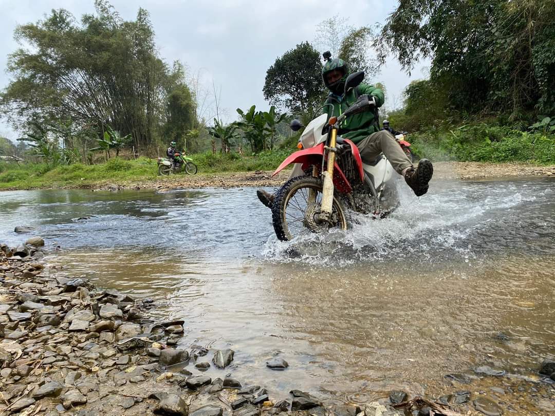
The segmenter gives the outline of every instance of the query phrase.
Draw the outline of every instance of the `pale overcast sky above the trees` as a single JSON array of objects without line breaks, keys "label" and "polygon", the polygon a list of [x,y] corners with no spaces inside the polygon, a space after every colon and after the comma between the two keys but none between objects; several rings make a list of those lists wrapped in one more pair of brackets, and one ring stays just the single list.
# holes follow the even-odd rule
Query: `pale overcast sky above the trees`
[{"label": "pale overcast sky above the trees", "polygon": [[[112,0],[126,20],[135,19],[139,7],[147,9],[156,33],[160,55],[171,63],[178,59],[193,72],[200,70],[207,85],[221,87],[224,119],[234,120],[236,108],[256,104],[268,109],[262,88],[266,70],[296,44],[316,35],[316,25],[341,14],[360,27],[384,22],[395,0]],[[8,84],[7,55],[17,48],[17,24],[36,22],[52,8],[65,8],[80,19],[94,12],[94,0],[0,0],[0,88]],[[321,51],[323,52],[323,51]],[[413,78],[422,78],[419,65]],[[386,100],[397,97],[410,82],[395,59],[377,77],[387,87]],[[0,135],[18,134],[0,120]]]}]

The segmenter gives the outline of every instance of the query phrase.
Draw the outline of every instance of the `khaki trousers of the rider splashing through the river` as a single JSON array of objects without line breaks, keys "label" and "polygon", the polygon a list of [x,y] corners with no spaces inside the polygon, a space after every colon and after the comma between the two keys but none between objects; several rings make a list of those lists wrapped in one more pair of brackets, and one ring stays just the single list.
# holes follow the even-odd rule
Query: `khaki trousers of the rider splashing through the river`
[{"label": "khaki trousers of the rider splashing through the river", "polygon": [[[412,166],[411,161],[401,149],[395,137],[388,131],[381,130],[372,133],[366,139],[359,141],[356,146],[359,148],[360,157],[365,164],[372,163],[380,153],[383,153],[398,174],[401,174],[403,169]],[[293,166],[289,179],[304,174],[301,166],[300,163],[296,163]]]}]

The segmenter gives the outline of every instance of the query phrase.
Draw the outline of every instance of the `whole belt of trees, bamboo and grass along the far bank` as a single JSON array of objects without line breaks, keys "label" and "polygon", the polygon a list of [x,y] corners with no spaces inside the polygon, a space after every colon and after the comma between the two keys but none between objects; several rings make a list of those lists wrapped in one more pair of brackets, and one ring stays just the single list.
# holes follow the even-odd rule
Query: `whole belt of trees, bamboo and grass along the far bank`
[{"label": "whole belt of trees, bamboo and grass along the far bank", "polygon": [[[21,48],[9,55],[11,82],[0,94],[0,111],[21,138],[17,145],[0,138],[3,189],[153,178],[155,158],[172,140],[201,173],[275,169],[296,150],[290,120],[307,123],[325,98],[326,49],[351,70],[364,69],[386,98],[379,79],[388,54],[407,71],[421,58],[431,60],[401,106],[386,100],[380,109],[382,120],[410,132],[418,156],[555,164],[551,1],[467,7],[460,0],[410,0],[377,29],[329,18],[312,42],[287,50],[268,69],[263,94],[270,109],[236,109],[232,122],[221,117],[214,84],[210,92],[199,74],[160,58],[147,11],[124,21],[105,0],[95,9],[80,20],[54,10],[15,29]],[[12,155],[25,162],[8,162]]]}]

